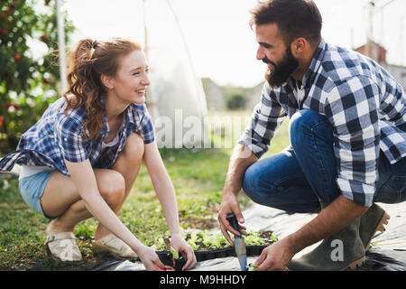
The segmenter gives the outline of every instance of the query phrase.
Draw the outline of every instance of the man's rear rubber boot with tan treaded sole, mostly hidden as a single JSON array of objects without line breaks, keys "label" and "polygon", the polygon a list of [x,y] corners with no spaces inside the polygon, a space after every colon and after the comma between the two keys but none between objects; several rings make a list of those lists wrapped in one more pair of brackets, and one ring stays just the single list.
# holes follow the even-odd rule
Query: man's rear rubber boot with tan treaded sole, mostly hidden
[{"label": "man's rear rubber boot with tan treaded sole, mostly hidden", "polygon": [[365,251],[369,249],[371,239],[377,231],[385,230],[386,225],[391,217],[377,204],[373,204],[361,217],[359,226],[359,237],[363,241]]}]

